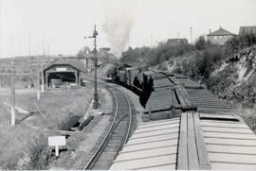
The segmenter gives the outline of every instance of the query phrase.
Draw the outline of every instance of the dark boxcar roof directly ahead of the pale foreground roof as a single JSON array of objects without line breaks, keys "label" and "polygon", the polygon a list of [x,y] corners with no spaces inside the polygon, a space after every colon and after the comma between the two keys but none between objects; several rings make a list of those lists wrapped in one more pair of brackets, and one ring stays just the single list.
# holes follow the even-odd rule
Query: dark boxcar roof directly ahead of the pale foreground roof
[{"label": "dark boxcar roof directly ahead of the pale foreground roof", "polygon": [[[156,74],[154,75],[156,76]],[[153,85],[154,91],[146,103],[145,113],[168,111],[172,106],[182,111],[233,112],[226,101],[220,100],[188,77],[165,75],[165,77],[154,79]],[[172,95],[171,89],[174,89],[174,95]]]}]

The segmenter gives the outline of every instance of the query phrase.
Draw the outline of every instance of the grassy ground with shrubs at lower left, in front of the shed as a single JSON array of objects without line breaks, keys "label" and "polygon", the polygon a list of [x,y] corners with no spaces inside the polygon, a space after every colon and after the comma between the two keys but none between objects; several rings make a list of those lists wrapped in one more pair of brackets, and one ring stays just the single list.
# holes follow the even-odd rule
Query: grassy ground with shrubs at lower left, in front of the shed
[{"label": "grassy ground with shrubs at lower left, in front of the shed", "polygon": [[[92,98],[91,87],[53,90],[36,100],[32,89],[16,91],[16,106],[32,113],[14,127],[10,126],[9,92],[0,92],[0,169],[46,169],[46,137],[56,135],[73,116],[82,116]],[[33,106],[37,104],[44,117]],[[26,114],[16,113],[22,120]],[[46,131],[44,131],[46,130]]]}]

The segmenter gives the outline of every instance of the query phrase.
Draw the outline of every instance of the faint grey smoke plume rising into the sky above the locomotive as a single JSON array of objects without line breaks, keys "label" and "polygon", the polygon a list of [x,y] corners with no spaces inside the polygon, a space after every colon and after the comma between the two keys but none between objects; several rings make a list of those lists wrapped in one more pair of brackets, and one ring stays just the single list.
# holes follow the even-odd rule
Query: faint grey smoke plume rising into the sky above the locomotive
[{"label": "faint grey smoke plume rising into the sky above the locomotive", "polygon": [[129,45],[130,32],[136,19],[134,1],[106,1],[104,4],[104,22],[102,28],[110,43],[112,52],[119,58]]}]

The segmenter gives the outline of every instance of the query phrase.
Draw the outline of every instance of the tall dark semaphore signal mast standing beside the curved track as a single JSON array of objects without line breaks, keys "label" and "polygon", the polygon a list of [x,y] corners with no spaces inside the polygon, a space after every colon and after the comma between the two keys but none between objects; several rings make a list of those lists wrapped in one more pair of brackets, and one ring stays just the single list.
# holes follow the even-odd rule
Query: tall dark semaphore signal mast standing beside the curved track
[{"label": "tall dark semaphore signal mast standing beside the curved track", "polygon": [[[99,107],[99,95],[97,93],[97,66],[98,66],[98,59],[97,59],[97,36],[98,36],[98,31],[96,30],[96,25],[94,25],[94,31],[93,31],[93,36],[90,36],[88,38],[93,38],[94,39],[94,103],[93,103],[93,108],[98,109]],[[86,37],[84,37],[86,38]]]}]

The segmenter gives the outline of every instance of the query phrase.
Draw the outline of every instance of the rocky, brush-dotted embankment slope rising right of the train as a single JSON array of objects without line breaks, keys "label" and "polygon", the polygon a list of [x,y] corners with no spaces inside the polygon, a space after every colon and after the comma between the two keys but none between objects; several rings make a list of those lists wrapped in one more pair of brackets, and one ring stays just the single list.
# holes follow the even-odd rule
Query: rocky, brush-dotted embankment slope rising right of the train
[{"label": "rocky, brush-dotted embankment slope rising right of the train", "polygon": [[[194,80],[204,83],[210,91],[225,99],[233,106],[247,124],[256,131],[256,45],[247,47],[231,55],[219,64],[204,64],[209,77],[194,76],[200,71],[200,61],[194,61],[193,55],[163,62],[170,71],[181,72]],[[213,69],[210,70],[210,67]],[[199,71],[198,71],[199,70]],[[205,71],[204,71],[205,72]],[[204,73],[203,73],[204,74]]]}]

